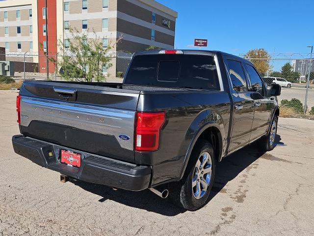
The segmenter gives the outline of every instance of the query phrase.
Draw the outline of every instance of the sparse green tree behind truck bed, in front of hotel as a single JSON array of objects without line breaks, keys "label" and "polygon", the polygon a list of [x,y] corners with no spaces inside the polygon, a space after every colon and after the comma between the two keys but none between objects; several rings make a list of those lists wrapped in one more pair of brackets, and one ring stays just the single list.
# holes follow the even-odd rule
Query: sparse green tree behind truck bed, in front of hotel
[{"label": "sparse green tree behind truck bed, in front of hotel", "polygon": [[80,82],[103,82],[106,76],[103,69],[112,66],[109,51],[116,46],[121,39],[115,43],[108,40],[107,47],[103,46],[103,38],[93,32],[93,37],[87,37],[87,32],[79,33],[77,30],[70,29],[70,40],[68,45],[59,40],[58,47],[62,52],[62,57],[57,60],[51,59],[57,63],[60,70],[60,76],[66,81]]}]

